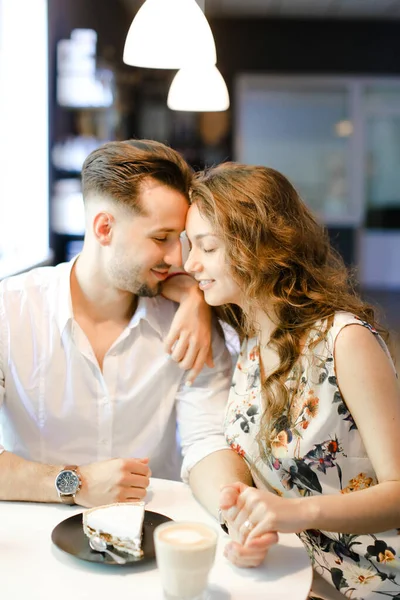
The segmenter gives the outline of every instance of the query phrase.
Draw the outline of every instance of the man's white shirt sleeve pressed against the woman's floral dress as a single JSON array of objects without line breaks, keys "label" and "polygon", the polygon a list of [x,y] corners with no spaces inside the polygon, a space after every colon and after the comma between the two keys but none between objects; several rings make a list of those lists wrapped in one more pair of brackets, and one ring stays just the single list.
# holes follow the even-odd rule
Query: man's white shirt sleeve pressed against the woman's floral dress
[{"label": "man's white shirt sleeve pressed against the woman's floral dress", "polygon": [[214,368],[204,366],[191,387],[182,383],[177,392],[177,423],[183,455],[181,477],[185,482],[196,463],[217,450],[229,448],[224,418],[232,379],[232,356],[216,328],[213,358]]}]

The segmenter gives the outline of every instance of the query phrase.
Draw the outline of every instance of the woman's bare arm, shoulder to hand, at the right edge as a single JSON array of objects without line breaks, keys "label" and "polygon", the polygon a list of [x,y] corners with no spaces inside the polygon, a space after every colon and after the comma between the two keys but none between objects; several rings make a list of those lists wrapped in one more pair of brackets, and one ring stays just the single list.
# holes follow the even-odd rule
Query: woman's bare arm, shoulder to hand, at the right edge
[{"label": "woman's bare arm, shoulder to hand, at the right edge", "polygon": [[338,335],[335,359],[342,397],[378,483],[349,494],[293,499],[237,484],[239,497],[230,510],[236,527],[246,520],[254,524],[249,540],[267,531],[377,533],[400,527],[400,394],[393,367],[371,332],[359,325]]}]

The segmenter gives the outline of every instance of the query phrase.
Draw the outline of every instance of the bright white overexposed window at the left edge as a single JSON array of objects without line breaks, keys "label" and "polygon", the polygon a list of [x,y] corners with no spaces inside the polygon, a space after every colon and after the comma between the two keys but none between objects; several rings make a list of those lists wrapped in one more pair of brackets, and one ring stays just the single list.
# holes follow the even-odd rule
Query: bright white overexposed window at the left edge
[{"label": "bright white overexposed window at the left edge", "polygon": [[47,1],[0,0],[0,277],[49,256]]}]

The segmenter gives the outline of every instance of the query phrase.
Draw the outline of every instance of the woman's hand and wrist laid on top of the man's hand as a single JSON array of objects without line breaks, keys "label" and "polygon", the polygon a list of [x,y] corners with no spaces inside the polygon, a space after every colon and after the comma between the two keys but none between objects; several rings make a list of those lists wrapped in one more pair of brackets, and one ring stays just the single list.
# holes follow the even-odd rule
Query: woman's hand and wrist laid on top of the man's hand
[{"label": "woman's hand and wrist laid on top of the man's hand", "polygon": [[307,499],[281,498],[243,483],[223,488],[220,498],[225,518],[248,544],[271,531],[299,533],[307,529],[306,505]]}]

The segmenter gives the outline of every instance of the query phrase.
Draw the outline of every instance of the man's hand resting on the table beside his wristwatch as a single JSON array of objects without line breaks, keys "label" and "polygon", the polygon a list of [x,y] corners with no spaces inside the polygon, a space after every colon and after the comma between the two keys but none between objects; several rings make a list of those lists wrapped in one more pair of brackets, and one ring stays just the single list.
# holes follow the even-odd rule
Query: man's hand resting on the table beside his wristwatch
[{"label": "man's hand resting on the table beside his wristwatch", "polygon": [[79,468],[82,488],[76,503],[85,507],[142,500],[151,471],[148,458],[113,458]]}]

